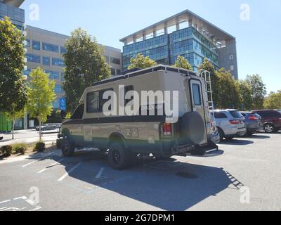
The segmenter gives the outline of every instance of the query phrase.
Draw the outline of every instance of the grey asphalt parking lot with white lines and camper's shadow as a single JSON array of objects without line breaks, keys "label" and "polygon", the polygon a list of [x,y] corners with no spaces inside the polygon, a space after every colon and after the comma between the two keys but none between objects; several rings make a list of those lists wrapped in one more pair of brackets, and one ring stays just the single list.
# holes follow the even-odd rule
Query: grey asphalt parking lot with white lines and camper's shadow
[{"label": "grey asphalt parking lot with white lines and camper's shadow", "polygon": [[139,160],[115,171],[81,150],[0,160],[0,211],[281,210],[281,132],[219,145],[222,155]]}]

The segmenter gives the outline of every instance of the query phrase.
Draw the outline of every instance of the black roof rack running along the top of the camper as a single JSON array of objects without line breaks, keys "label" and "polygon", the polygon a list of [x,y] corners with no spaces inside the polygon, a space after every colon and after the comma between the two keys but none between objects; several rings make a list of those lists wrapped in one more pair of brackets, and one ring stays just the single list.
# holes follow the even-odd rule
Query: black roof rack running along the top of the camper
[{"label": "black roof rack running along the top of the camper", "polygon": [[145,68],[145,69],[134,69],[133,72],[131,72],[131,70],[127,70],[124,72],[124,75],[119,75],[119,76],[115,76],[109,79],[103,79],[100,82],[96,82],[93,84],[93,86],[97,86],[100,84],[107,84],[109,82],[115,82],[117,80],[121,80],[121,79],[127,79],[129,77],[136,77],[136,76],[140,76],[140,75],[145,75],[149,72],[157,72],[160,70],[164,70],[164,71],[171,71],[171,72],[178,72],[181,73],[183,75],[186,76],[197,76],[197,74],[191,70],[185,70],[185,69],[181,69],[181,68],[174,68],[172,66],[169,65],[157,65],[155,67],[152,68]]}]

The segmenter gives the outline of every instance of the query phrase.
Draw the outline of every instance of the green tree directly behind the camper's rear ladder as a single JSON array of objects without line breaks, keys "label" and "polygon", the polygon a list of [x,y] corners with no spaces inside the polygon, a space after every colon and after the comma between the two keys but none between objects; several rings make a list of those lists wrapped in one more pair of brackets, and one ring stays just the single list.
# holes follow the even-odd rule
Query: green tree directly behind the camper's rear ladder
[{"label": "green tree directly behind the camper's rear ladder", "polygon": [[219,96],[218,96],[218,75],[214,68],[214,65],[205,58],[203,63],[198,67],[198,70],[204,71],[207,70],[211,75],[211,89],[213,91],[213,101],[215,105],[218,105]]}]

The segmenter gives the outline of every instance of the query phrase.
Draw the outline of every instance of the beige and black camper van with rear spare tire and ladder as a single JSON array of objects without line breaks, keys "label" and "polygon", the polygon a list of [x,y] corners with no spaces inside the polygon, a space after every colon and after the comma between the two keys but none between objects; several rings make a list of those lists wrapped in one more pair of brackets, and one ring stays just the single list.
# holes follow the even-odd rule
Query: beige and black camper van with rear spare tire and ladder
[{"label": "beige and black camper van with rear spare tire and ladder", "polygon": [[217,150],[207,139],[209,120],[205,79],[157,65],[86,88],[59,138],[65,157],[75,148],[98,148],[112,168],[124,169],[138,155],[202,156]]}]

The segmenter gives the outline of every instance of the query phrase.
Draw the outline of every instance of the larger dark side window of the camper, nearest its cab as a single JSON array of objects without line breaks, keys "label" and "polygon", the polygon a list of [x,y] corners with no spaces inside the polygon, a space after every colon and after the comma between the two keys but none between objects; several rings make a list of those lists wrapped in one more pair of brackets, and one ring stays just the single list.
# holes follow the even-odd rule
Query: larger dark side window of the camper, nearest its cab
[{"label": "larger dark side window of the camper, nearest its cab", "polygon": [[103,99],[105,91],[113,91],[113,89],[93,91],[87,94],[87,113],[103,113],[103,104],[108,101],[108,99]]}]

